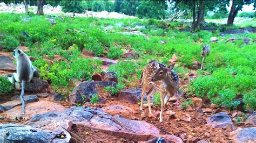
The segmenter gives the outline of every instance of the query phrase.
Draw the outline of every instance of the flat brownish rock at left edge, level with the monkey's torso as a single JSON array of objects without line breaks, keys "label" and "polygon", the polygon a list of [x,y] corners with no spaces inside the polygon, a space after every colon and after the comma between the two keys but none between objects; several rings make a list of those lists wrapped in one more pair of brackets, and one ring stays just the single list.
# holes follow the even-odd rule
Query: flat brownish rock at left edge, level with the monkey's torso
[{"label": "flat brownish rock at left edge, level with the monkey's torso", "polygon": [[9,56],[0,56],[0,70],[16,70],[14,60]]}]

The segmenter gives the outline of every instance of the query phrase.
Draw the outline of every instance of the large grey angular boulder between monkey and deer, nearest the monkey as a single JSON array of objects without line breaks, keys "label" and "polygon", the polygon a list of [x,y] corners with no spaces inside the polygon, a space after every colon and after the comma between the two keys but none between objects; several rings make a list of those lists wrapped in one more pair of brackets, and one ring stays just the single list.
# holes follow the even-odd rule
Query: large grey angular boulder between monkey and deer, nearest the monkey
[{"label": "large grey angular boulder between monkey and deer, nearest the monkey", "polygon": [[82,96],[85,97],[84,102],[89,102],[92,95],[97,94],[96,84],[94,81],[84,81],[79,83],[69,95],[71,104],[83,103]]}]

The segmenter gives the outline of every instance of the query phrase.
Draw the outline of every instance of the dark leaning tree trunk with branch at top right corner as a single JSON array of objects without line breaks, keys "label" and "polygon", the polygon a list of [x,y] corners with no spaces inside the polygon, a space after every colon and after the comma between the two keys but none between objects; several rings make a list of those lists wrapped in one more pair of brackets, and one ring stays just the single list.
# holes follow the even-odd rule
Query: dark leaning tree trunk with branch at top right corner
[{"label": "dark leaning tree trunk with branch at top right corner", "polygon": [[[244,4],[251,4],[253,2],[254,1],[251,1],[251,0],[233,0],[230,13],[228,14],[227,26],[230,26],[234,23],[235,16],[237,16],[238,11],[242,9],[242,6]],[[255,3],[254,3],[254,8],[255,8]]]}]

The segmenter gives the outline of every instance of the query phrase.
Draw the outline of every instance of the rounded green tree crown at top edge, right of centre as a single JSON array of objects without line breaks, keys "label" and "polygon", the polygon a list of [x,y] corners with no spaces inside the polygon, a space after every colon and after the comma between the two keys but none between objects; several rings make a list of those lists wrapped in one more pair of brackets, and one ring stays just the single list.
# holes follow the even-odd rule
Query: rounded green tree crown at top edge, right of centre
[{"label": "rounded green tree crown at top edge, right of centre", "polygon": [[164,19],[166,8],[165,1],[143,1],[138,7],[137,14],[139,18]]}]

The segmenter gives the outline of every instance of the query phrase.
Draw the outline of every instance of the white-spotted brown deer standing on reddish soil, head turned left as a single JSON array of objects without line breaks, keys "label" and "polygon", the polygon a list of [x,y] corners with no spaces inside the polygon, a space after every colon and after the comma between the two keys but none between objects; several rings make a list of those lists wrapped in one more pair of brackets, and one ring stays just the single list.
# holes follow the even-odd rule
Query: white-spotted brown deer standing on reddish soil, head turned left
[{"label": "white-spotted brown deer standing on reddish soil, head turned left", "polygon": [[169,101],[171,96],[174,96],[179,88],[179,76],[171,70],[173,66],[167,67],[163,63],[156,60],[152,60],[143,69],[142,76],[140,78],[142,84],[142,100],[140,104],[140,111],[143,111],[142,104],[144,94],[147,91],[147,104],[149,106],[149,112],[152,113],[150,96],[156,91],[160,91],[161,98],[161,112],[160,122],[163,122],[164,105]]}]

